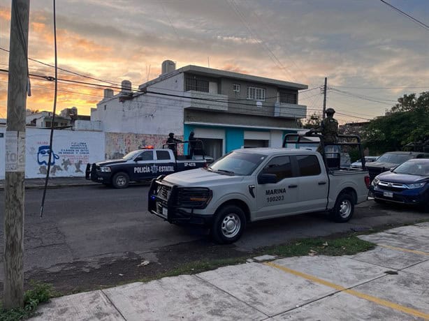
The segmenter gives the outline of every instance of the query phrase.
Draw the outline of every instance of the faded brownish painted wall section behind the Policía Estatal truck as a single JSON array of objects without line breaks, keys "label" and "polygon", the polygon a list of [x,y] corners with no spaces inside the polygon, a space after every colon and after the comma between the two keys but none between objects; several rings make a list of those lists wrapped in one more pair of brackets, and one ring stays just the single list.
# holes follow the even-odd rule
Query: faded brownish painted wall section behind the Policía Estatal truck
[{"label": "faded brownish painted wall section behind the Polic\u00eda Estatal truck", "polygon": [[[181,136],[175,136],[182,140]],[[106,133],[106,159],[122,158],[130,151],[142,149],[152,145],[154,148],[162,148],[166,144],[168,135],[131,134],[131,133]],[[177,149],[182,154],[182,146]]]}]

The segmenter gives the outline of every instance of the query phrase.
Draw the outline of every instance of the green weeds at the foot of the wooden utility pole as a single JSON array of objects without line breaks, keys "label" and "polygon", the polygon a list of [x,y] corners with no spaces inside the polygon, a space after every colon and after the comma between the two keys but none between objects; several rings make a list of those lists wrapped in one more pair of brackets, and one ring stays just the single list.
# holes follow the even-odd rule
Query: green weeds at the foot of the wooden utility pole
[{"label": "green weeds at the foot of the wooden utility pole", "polygon": [[36,315],[37,306],[52,297],[52,285],[31,282],[31,289],[24,293],[24,307],[3,309],[0,306],[0,321],[15,321]]}]

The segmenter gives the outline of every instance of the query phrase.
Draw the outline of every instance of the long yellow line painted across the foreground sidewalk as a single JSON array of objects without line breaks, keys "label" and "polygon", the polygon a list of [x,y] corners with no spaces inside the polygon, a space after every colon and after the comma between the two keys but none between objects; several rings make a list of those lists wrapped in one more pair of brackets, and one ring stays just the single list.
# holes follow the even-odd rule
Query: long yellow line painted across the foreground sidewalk
[{"label": "long yellow line painted across the foreground sidewalk", "polygon": [[293,274],[295,276],[300,276],[301,278],[305,278],[309,281],[313,281],[314,283],[319,283],[322,285],[326,285],[329,288],[333,288],[333,289],[338,290],[338,291],[346,292],[348,294],[354,295],[355,297],[359,297],[361,299],[371,301],[375,304],[379,304],[380,306],[386,306],[388,308],[393,308],[394,310],[397,310],[397,311],[400,311],[403,313],[407,313],[409,315],[413,315],[414,317],[417,317],[417,318],[423,318],[423,319],[429,320],[429,314],[428,313],[421,312],[421,311],[416,310],[414,308],[407,308],[407,306],[401,306],[400,304],[395,304],[391,301],[380,299],[378,297],[373,297],[372,295],[368,295],[368,294],[365,294],[362,292],[358,292],[356,290],[350,290],[350,289],[344,288],[342,285],[337,285],[335,283],[323,280],[321,278],[317,278],[316,276],[312,276],[310,274],[305,274],[303,272],[296,271],[293,269],[289,269],[287,267],[282,267],[281,265],[278,265],[278,264],[275,264],[272,262],[265,262],[263,264],[266,264],[269,267],[274,267],[275,269],[285,271],[285,272]]}]

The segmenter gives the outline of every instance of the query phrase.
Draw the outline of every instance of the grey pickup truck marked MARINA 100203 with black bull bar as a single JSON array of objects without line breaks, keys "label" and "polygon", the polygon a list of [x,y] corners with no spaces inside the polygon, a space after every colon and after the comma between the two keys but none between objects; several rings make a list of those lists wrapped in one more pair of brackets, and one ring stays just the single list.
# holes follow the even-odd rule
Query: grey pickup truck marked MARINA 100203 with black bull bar
[{"label": "grey pickup truck marked MARINA 100203 with black bull bar", "polygon": [[237,149],[210,167],[152,180],[148,210],[170,223],[209,227],[218,243],[233,243],[247,222],[268,218],[320,211],[347,222],[367,199],[368,172],[326,160],[306,149]]}]

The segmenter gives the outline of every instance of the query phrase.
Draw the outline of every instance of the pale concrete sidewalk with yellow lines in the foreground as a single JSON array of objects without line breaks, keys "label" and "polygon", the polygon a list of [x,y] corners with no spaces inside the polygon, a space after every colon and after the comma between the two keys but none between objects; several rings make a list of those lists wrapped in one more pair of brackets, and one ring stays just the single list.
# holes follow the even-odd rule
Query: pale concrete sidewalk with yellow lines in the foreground
[{"label": "pale concrete sidewalk with yellow lines in the foreground", "polygon": [[361,236],[357,255],[255,257],[52,299],[31,320],[429,320],[429,223]]}]

